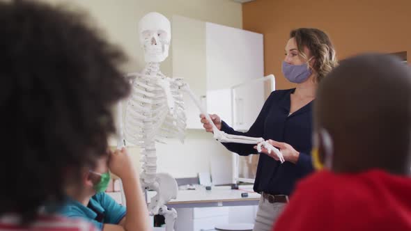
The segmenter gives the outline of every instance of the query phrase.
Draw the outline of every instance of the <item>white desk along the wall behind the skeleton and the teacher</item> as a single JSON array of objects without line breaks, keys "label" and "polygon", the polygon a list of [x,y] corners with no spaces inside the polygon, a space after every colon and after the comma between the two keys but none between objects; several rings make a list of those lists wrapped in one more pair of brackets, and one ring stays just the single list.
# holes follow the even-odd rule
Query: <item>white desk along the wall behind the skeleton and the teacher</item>
[{"label": "white desk along the wall behind the skeleton and the teacher", "polygon": [[[210,191],[203,187],[178,191],[177,198],[167,203],[167,207],[178,212],[176,230],[212,230],[218,224],[254,223],[260,194],[252,192],[251,186],[240,187],[242,190],[213,186]],[[242,198],[241,193],[245,191],[248,197]],[[119,192],[109,194],[121,202]],[[155,191],[148,191],[148,200],[153,196]]]}]

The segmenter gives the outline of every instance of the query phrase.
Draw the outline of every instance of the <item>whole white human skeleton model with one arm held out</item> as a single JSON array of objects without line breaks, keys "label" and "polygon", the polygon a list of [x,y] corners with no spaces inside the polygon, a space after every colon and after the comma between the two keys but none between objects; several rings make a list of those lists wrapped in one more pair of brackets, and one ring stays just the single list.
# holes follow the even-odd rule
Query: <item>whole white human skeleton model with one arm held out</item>
[{"label": "whole white human skeleton model with one arm held out", "polygon": [[121,104],[118,106],[118,148],[124,145],[125,140],[141,147],[141,184],[145,189],[157,192],[150,199],[148,210],[152,215],[163,215],[166,231],[172,231],[177,212],[175,209],[167,209],[165,204],[176,198],[178,186],[176,180],[168,173],[157,173],[155,142],[173,137],[184,141],[186,118],[183,93],[188,93],[201,113],[206,115],[207,120],[213,125],[214,138],[217,141],[258,144],[258,152],[263,146],[274,151],[281,162],[284,158],[277,148],[265,142],[263,138],[234,136],[219,131],[187,83],[183,79],[166,77],[160,72],[160,63],[169,55],[171,41],[170,22],[164,15],[145,15],[139,22],[139,38],[144,49],[146,67],[142,72],[125,76],[132,84],[132,94],[127,100],[124,121]]}]

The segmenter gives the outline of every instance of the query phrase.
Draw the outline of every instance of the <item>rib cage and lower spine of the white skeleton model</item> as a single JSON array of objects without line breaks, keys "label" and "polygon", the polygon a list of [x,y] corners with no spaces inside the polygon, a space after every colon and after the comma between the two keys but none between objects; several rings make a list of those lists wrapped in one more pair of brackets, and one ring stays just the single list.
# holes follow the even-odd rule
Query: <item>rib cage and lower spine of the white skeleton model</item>
[{"label": "rib cage and lower spine of the white skeleton model", "polygon": [[[149,73],[149,72],[148,72]],[[183,95],[177,84],[180,79],[165,77],[160,72],[154,75],[138,74],[132,80],[132,95],[127,100],[125,109],[125,140],[142,148],[141,162],[148,182],[155,179],[157,157],[145,150],[153,147],[153,141],[165,143],[164,138],[185,139],[185,108]],[[152,72],[150,74],[153,74]],[[170,93],[174,101],[173,112],[169,110],[167,95],[158,80],[169,82]],[[145,144],[145,145],[144,145]]]}]

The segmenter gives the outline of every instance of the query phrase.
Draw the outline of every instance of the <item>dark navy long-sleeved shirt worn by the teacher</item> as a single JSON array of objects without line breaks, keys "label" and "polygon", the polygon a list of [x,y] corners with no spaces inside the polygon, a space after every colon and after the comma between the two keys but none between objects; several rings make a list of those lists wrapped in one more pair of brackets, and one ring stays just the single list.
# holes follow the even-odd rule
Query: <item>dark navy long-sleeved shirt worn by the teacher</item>
[{"label": "dark navy long-sleeved shirt worn by the teacher", "polygon": [[[313,171],[311,164],[311,134],[313,102],[303,106],[290,116],[290,94],[294,89],[274,90],[265,101],[263,109],[248,132],[237,132],[222,122],[222,131],[241,136],[263,137],[265,140],[288,143],[300,157],[296,164],[280,161],[261,154],[258,159],[254,191],[273,195],[292,193],[295,182]],[[231,152],[240,155],[257,154],[254,145],[223,143]]]}]

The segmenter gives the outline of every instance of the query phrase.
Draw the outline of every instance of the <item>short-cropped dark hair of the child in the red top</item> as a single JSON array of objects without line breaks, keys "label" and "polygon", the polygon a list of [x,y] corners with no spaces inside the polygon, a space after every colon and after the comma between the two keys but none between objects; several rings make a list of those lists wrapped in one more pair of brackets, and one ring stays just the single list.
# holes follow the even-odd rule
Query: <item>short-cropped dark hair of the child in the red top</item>
[{"label": "short-cropped dark hair of the child in the red top", "polygon": [[320,83],[315,127],[332,137],[332,168],[410,173],[411,68],[398,58],[364,54],[341,61]]}]

